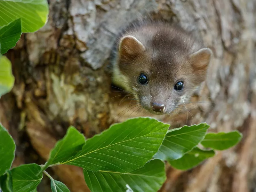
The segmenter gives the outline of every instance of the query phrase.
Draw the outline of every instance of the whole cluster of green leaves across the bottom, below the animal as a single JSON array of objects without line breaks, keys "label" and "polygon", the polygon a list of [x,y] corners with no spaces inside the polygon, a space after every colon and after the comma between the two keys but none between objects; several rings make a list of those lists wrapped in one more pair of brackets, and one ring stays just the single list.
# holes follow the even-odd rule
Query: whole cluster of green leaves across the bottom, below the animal
[{"label": "whole cluster of green leaves across the bottom, below the animal", "polygon": [[164,161],[176,169],[191,169],[214,156],[213,149],[225,150],[241,139],[237,131],[207,133],[205,123],[172,130],[169,126],[149,117],[132,118],[87,140],[71,126],[44,165],[24,164],[11,170],[15,144],[1,126],[0,186],[4,192],[36,191],[44,173],[53,192],[66,192],[68,188],[45,170],[68,164],[83,168],[92,192],[156,192],[166,179]]}]

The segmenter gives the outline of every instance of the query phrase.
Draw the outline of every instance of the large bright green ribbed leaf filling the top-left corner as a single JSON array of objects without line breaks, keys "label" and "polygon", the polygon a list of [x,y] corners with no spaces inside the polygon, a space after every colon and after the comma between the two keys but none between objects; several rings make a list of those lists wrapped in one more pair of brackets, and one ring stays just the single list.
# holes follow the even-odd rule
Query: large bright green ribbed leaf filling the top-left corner
[{"label": "large bright green ribbed leaf filling the top-left corner", "polygon": [[0,0],[0,26],[21,18],[22,32],[35,32],[48,19],[47,0]]}]

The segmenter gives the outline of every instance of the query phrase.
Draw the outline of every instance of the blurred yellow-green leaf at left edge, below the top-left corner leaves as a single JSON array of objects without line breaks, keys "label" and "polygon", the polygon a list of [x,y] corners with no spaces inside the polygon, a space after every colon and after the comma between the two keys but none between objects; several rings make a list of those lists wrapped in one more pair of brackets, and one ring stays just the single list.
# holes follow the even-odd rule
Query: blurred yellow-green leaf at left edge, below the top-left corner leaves
[{"label": "blurred yellow-green leaf at left edge, below the top-left corner leaves", "polygon": [[7,59],[7,57],[3,55],[1,56],[0,54],[0,97],[11,91],[13,84],[14,76],[12,75],[12,64],[10,60]]}]

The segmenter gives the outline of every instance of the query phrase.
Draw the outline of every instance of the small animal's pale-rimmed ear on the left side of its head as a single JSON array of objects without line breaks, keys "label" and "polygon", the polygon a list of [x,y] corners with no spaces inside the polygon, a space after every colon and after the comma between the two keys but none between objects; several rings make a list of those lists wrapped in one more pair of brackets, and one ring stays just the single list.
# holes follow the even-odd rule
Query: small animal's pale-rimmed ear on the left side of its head
[{"label": "small animal's pale-rimmed ear on the left side of its head", "polygon": [[132,59],[144,50],[145,46],[134,36],[124,36],[120,39],[118,52],[121,59]]}]

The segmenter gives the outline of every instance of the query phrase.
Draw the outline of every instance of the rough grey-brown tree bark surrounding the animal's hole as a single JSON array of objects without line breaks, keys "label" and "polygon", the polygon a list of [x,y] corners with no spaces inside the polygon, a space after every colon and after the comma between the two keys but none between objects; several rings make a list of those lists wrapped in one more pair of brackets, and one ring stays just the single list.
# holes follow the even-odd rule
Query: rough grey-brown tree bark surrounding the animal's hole
[{"label": "rough grey-brown tree bark surrounding the animal's hole", "polygon": [[[244,134],[238,146],[195,169],[167,168],[161,191],[255,191],[255,0],[51,0],[46,26],[22,35],[8,52],[15,86],[0,100],[0,121],[17,144],[14,166],[44,164],[69,125],[91,137],[135,115],[132,108],[123,111],[124,102],[118,107],[122,98],[106,94],[111,91],[107,59],[118,29],[152,11],[192,30],[214,53],[197,104],[163,121],[173,127],[206,121],[211,131]],[[80,168],[57,166],[54,173],[71,191],[89,191]],[[47,178],[39,191],[50,191]]]}]

